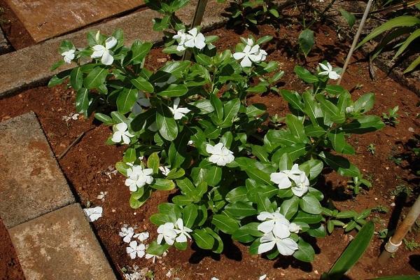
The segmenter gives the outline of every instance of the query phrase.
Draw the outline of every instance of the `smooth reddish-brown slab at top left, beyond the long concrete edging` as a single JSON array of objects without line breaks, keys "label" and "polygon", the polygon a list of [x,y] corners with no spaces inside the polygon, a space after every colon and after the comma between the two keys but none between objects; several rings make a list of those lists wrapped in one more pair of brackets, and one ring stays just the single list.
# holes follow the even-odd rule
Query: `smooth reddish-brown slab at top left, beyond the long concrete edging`
[{"label": "smooth reddish-brown slab at top left, beyond the long concrete edging", "polygon": [[144,5],[141,0],[6,0],[6,3],[36,42]]}]

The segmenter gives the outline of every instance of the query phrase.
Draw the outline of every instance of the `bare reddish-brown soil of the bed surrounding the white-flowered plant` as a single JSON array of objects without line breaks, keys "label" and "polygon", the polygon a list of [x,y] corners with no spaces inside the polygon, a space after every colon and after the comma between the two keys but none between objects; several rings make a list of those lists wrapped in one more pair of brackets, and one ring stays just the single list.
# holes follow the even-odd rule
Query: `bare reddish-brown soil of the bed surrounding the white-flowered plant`
[{"label": "bare reddish-brown soil of the bed surrounding the white-flowered plant", "polygon": [[[280,62],[280,68],[285,71],[277,86],[291,90],[303,90],[307,87],[293,72],[296,64],[302,64],[293,57],[293,54],[297,53],[296,38],[299,29],[294,26],[274,29],[262,25],[259,30],[259,34],[255,36],[274,36],[274,39],[265,45],[265,50],[269,53],[268,59]],[[220,49],[234,49],[239,41],[239,35],[230,29],[217,29],[210,34],[221,37],[216,42]],[[245,32],[241,36],[247,34]],[[305,66],[314,69],[323,59],[342,66],[349,43],[337,42],[332,29],[325,26],[318,27],[316,47],[307,57],[308,63]],[[359,55],[360,57],[362,56]],[[155,49],[148,56],[146,66],[157,69],[169,59],[171,57],[162,54],[160,49]],[[416,120],[416,113],[419,112],[416,103],[419,102],[419,97],[395,83],[381,71],[377,72],[377,80],[370,80],[368,69],[368,62],[353,60],[342,85],[348,90],[353,90],[354,99],[365,92],[374,92],[376,100],[372,114],[380,116],[382,112],[398,105],[400,123],[396,127],[386,126],[378,132],[365,134],[363,137],[353,137],[350,140],[350,143],[356,146],[356,155],[351,156],[351,161],[372,181],[371,190],[352,197],[351,190],[346,188],[346,178],[338,176],[335,172],[328,173],[328,170],[321,177],[319,188],[323,188],[325,195],[329,196],[327,198],[333,200],[339,209],[360,211],[378,205],[387,207],[390,210],[387,214],[374,213],[370,216],[371,220],[376,222],[377,230],[381,230],[387,228],[393,209],[400,207],[398,203],[395,207],[391,206],[395,203],[392,193],[396,187],[404,185],[412,190],[418,188],[419,178],[413,175],[413,162],[406,159],[411,155],[409,145],[416,143],[416,140],[412,139],[415,139],[415,135],[419,132],[419,121]],[[325,238],[312,239],[312,245],[316,248],[316,258],[311,264],[284,256],[274,261],[260,256],[252,257],[246,246],[229,241],[228,238],[225,239],[225,250],[221,255],[203,253],[192,246],[186,251],[172,248],[165,258],[157,260],[155,264],[144,258],[130,260],[125,253],[127,244],[118,236],[120,228],[124,224],[137,225],[141,230],[148,230],[151,239],[154,239],[157,235],[156,227],[148,221],[148,217],[157,212],[158,204],[167,202],[168,193],[157,191],[143,207],[131,209],[128,203],[130,192],[124,185],[124,177],[111,172],[113,165],[123,155],[123,147],[107,146],[105,141],[111,134],[110,128],[104,125],[98,126],[92,117],[87,120],[81,116],[78,120],[67,122],[63,120],[63,116],[69,116],[74,112],[74,99],[75,92],[62,86],[36,87],[13,97],[0,99],[0,120],[34,111],[55,155],[62,153],[78,135],[86,132],[83,139],[59,160],[59,165],[83,205],[90,202],[92,206],[104,208],[104,215],[92,223],[92,226],[116,271],[120,271],[120,267],[138,265],[140,268],[151,269],[155,279],[171,279],[165,276],[169,269],[172,269],[172,277],[180,279],[211,279],[213,276],[221,280],[258,279],[262,274],[267,274],[267,279],[318,279],[323,272],[328,271],[351,241],[354,232],[350,232],[349,235],[344,234],[342,230],[335,230],[332,235]],[[277,95],[255,96],[249,100],[266,104],[270,115],[277,113],[279,116],[285,116],[288,113],[287,103]],[[374,155],[367,151],[367,146],[370,144],[375,146]],[[395,162],[398,165],[395,165]],[[412,197],[415,197],[418,191],[415,189]],[[104,202],[97,199],[100,192],[108,192]],[[410,205],[409,200],[404,203],[403,213]],[[407,239],[420,242],[416,232],[410,233]],[[375,236],[363,258],[351,269],[349,279],[419,273],[419,253],[410,252],[405,246],[400,248],[395,258],[391,258],[386,266],[377,265],[375,259],[379,255],[381,243],[382,240]]]}]

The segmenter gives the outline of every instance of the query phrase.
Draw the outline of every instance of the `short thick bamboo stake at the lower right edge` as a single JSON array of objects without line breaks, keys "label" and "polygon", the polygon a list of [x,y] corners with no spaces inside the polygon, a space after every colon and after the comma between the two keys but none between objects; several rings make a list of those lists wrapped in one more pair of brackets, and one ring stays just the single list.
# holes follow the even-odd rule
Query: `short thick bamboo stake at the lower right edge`
[{"label": "short thick bamboo stake at the lower right edge", "polygon": [[402,244],[402,239],[404,239],[407,232],[412,227],[412,225],[416,222],[417,218],[420,215],[420,195],[417,197],[416,202],[405,217],[404,221],[400,224],[400,226],[395,230],[395,234],[386,242],[385,250],[382,251],[381,255],[379,255],[378,262],[381,265],[384,265],[386,260],[391,257],[392,253],[395,253],[398,250],[398,247]]}]

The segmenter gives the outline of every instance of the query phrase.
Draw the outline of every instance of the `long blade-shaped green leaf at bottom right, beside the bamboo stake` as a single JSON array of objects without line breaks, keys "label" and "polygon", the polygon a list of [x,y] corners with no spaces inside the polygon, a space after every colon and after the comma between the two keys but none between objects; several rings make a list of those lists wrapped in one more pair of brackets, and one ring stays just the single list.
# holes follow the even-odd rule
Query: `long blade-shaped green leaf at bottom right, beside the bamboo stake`
[{"label": "long blade-shaped green leaf at bottom right, beside the bamboo stake", "polygon": [[334,265],[328,272],[329,279],[342,279],[342,276],[353,267],[359,258],[365,253],[370,240],[373,237],[374,223],[368,222],[360,229],[356,237],[350,242],[349,246],[339,256]]}]

